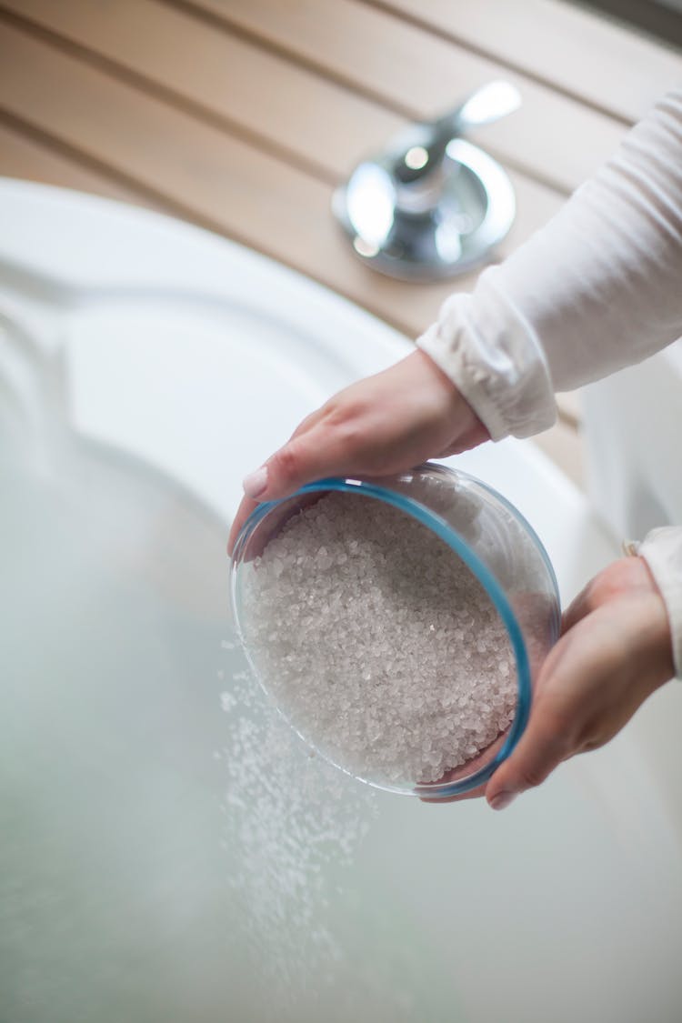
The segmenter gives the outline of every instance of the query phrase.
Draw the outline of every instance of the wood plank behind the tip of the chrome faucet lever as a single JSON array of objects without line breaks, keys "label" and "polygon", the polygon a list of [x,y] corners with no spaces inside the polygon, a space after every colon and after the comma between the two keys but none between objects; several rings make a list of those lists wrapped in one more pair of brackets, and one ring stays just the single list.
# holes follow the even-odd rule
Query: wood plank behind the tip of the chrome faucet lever
[{"label": "wood plank behind the tip of the chrome faucet lever", "polygon": [[[66,31],[63,23],[69,18],[58,12],[69,3],[12,0],[12,6],[32,11],[34,16],[39,11],[52,24],[59,20],[61,31]],[[507,73],[498,60],[472,53],[360,0],[193,0],[180,6],[186,11],[203,11],[212,16],[212,24],[247,33],[261,45],[413,119],[433,118],[476,86],[504,74],[520,89],[524,105],[481,129],[476,137],[503,163],[563,192],[589,177],[610,155],[625,131],[621,121],[517,72]],[[178,7],[177,2],[174,7]],[[145,58],[146,66],[151,68],[155,59],[150,54]],[[308,105],[311,103],[314,99],[309,97]],[[323,146],[320,139],[328,135],[334,117],[332,109],[323,134],[314,140],[316,151]],[[373,144],[389,134],[377,130]],[[353,160],[361,154],[355,149]]]}]

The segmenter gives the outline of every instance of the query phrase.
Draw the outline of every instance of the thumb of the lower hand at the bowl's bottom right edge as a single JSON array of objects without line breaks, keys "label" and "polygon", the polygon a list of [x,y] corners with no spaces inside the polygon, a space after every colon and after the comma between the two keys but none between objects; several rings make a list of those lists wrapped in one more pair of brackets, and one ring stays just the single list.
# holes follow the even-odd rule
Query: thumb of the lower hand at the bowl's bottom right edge
[{"label": "thumb of the lower hand at the bowl's bottom right edge", "polygon": [[564,729],[536,706],[518,746],[502,763],[486,787],[486,799],[494,810],[505,806],[527,789],[545,781],[569,753]]}]

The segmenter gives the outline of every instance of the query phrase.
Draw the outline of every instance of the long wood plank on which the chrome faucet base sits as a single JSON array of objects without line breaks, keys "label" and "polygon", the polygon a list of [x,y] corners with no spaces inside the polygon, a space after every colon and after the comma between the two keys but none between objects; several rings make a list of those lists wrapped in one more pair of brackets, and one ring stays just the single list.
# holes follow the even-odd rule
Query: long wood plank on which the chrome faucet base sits
[{"label": "long wood plank on which the chrome faucet base sits", "polygon": [[[190,220],[252,246],[346,295],[408,336],[467,275],[406,285],[364,267],[329,213],[331,188],[226,131],[141,93],[49,44],[0,25],[0,106],[108,168]],[[1,166],[1,158],[0,158]],[[556,193],[514,176],[516,223],[500,255],[555,212]]]}]

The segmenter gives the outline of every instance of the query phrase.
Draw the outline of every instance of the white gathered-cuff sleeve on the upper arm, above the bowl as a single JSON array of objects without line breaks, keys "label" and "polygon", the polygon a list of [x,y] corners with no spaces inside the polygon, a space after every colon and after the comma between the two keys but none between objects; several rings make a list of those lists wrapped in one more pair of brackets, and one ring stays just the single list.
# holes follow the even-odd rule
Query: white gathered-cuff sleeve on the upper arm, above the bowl
[{"label": "white gathered-cuff sleeve on the upper arm, above the bowl", "polygon": [[419,347],[493,440],[551,426],[554,391],[682,333],[682,87],[504,263],[453,295]]}]

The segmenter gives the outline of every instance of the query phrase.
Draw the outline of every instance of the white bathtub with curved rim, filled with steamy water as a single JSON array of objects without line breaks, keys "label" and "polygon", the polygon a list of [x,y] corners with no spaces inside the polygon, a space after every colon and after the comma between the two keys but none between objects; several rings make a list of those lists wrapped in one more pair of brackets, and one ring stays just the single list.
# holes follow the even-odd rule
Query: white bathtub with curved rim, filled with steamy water
[{"label": "white bathtub with curved rim, filled with steamy water", "polygon": [[[326,769],[243,677],[238,481],[406,343],[184,225],[0,207],[0,1018],[676,1018],[679,819],[636,737],[502,814],[426,806]],[[564,598],[613,555],[527,445],[459,464]]]}]

